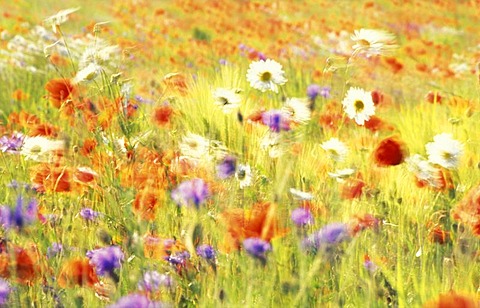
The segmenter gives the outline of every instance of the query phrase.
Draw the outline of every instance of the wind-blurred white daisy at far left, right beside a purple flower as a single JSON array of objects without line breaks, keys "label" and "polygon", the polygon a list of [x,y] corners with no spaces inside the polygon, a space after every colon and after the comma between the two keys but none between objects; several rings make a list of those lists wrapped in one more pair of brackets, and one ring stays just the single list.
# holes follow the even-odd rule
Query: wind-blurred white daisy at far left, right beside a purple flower
[{"label": "wind-blurred white daisy at far left, right beside a purple flower", "polygon": [[46,162],[50,161],[55,151],[65,149],[65,141],[52,140],[45,137],[25,137],[20,154],[26,159]]}]

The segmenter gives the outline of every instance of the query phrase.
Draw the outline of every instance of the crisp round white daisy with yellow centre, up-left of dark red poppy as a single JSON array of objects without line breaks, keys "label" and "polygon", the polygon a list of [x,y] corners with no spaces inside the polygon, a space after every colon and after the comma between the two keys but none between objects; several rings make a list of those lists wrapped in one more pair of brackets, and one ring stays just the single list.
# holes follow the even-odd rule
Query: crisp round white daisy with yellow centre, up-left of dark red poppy
[{"label": "crisp round white daisy with yellow centre, up-left of dark red poppy", "polygon": [[358,125],[364,125],[375,114],[372,94],[360,88],[350,88],[342,101],[347,116]]}]

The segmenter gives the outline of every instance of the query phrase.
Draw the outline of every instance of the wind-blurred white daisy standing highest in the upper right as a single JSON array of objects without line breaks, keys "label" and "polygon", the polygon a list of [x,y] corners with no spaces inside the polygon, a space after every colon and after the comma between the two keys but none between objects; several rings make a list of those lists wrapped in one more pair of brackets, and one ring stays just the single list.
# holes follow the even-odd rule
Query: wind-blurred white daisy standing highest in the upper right
[{"label": "wind-blurred white daisy standing highest in the upper right", "polygon": [[354,42],[352,56],[361,53],[367,57],[389,54],[398,48],[395,35],[383,30],[355,30],[351,39]]}]

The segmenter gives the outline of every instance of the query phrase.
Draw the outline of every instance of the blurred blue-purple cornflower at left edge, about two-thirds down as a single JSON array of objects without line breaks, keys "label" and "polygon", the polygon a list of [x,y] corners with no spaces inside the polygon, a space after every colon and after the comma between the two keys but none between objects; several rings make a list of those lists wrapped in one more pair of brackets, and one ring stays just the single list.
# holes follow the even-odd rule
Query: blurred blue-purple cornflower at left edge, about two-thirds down
[{"label": "blurred blue-purple cornflower at left edge, about two-thirds down", "polygon": [[31,199],[24,208],[22,196],[17,198],[15,209],[8,206],[0,207],[0,223],[5,229],[17,227],[23,229],[25,226],[33,223],[37,218],[38,203]]}]

